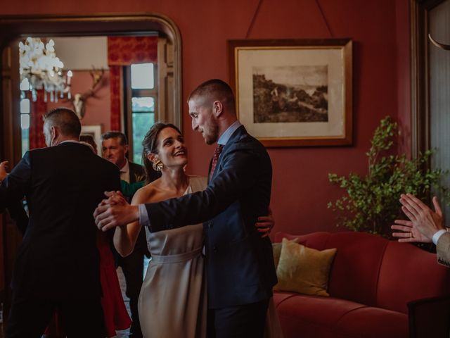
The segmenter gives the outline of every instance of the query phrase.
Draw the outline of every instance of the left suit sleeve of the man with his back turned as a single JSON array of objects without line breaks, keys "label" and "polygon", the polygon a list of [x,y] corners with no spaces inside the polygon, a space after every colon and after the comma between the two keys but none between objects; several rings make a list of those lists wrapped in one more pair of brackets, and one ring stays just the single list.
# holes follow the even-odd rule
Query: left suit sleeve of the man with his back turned
[{"label": "left suit sleeve of the man with his back turned", "polygon": [[20,201],[27,192],[31,180],[30,152],[26,152],[18,165],[0,184],[0,209]]}]

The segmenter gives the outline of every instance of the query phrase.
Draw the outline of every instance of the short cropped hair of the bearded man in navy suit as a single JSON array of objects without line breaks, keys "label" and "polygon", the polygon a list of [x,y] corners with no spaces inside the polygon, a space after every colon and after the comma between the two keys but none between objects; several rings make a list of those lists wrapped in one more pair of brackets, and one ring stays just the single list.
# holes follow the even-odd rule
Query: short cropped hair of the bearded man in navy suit
[{"label": "short cropped hair of the bearded man in navy suit", "polygon": [[204,99],[218,99],[229,107],[234,108],[233,90],[228,83],[220,79],[211,79],[203,82],[191,92],[188,102],[196,97]]}]

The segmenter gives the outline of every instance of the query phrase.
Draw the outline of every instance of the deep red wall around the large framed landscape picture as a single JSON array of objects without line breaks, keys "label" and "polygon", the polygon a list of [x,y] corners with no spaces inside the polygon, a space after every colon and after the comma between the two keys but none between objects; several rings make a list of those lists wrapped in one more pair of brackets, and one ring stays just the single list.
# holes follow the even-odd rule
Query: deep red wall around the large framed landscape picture
[{"label": "deep red wall around the large framed landscape picture", "polygon": [[[317,2],[321,4],[321,15]],[[183,97],[203,80],[229,80],[227,39],[244,39],[259,1],[79,0],[5,1],[2,14],[158,12],[179,26],[183,39]],[[271,206],[276,230],[336,231],[328,201],[340,190],[328,173],[365,173],[371,134],[385,115],[409,116],[408,0],[266,0],[249,39],[350,37],[354,41],[354,145],[269,149],[274,166]],[[401,50],[400,50],[401,49]],[[400,101],[401,100],[401,101]],[[401,114],[399,114],[401,111]],[[406,121],[407,122],[407,121]],[[191,173],[205,175],[213,148],[190,129],[184,107],[184,133],[191,149]]]}]

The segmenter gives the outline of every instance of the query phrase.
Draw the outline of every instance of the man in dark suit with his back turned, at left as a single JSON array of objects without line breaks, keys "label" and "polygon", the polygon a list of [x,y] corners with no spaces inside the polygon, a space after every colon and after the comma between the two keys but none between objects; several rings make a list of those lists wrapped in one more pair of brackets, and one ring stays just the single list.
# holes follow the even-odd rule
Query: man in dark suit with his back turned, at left
[{"label": "man in dark suit with his back turned, at left", "polygon": [[105,337],[92,212],[105,189],[120,188],[119,170],[79,144],[80,131],[70,109],[49,111],[49,147],[27,151],[0,184],[0,209],[26,196],[30,211],[6,337],[41,337],[55,311],[68,337]]}]

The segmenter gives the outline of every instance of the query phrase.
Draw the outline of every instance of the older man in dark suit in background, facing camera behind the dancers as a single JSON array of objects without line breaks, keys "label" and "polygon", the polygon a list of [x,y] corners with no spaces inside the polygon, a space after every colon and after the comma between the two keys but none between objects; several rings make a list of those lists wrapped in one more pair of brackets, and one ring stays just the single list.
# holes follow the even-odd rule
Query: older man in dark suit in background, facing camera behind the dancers
[{"label": "older man in dark suit in background, facing camera behind the dancers", "polygon": [[[140,182],[146,179],[143,166],[128,161],[128,141],[122,132],[105,132],[101,136],[103,158],[117,165],[120,169],[120,179],[128,183]],[[131,199],[130,199],[131,200]],[[116,253],[118,265],[122,267],[125,282],[127,284],[126,294],[129,298],[131,310],[130,337],[141,338],[141,325],[139,323],[138,299],[143,281],[143,257],[150,256],[147,248],[146,232],[141,231],[136,240],[134,251],[127,257]]]}]

